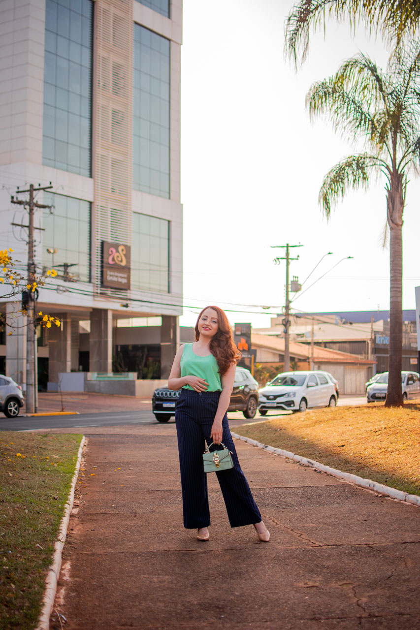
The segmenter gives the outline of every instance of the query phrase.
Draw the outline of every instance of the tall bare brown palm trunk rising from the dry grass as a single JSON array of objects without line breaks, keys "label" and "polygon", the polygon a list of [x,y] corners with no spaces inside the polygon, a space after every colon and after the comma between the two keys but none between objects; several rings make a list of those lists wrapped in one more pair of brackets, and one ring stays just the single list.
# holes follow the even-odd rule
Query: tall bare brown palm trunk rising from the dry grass
[{"label": "tall bare brown palm trunk rising from the dry grass", "polygon": [[[394,188],[394,186],[392,186]],[[400,190],[388,192],[390,224],[390,311],[389,311],[389,375],[385,407],[400,407],[402,399],[402,211]],[[397,186],[398,188],[398,186]],[[394,194],[393,194],[394,193]],[[397,193],[397,194],[395,194]]]}]

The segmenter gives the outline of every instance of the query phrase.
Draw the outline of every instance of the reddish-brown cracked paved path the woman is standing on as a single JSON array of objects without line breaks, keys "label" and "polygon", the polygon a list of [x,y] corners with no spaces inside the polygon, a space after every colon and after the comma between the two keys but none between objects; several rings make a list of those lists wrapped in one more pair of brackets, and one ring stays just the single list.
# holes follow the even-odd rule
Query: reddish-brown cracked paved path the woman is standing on
[{"label": "reddish-brown cracked paved path the woman is standing on", "polygon": [[418,507],[236,441],[271,542],[230,528],[213,474],[198,542],[172,423],[85,435],[55,600],[67,630],[420,627]]}]

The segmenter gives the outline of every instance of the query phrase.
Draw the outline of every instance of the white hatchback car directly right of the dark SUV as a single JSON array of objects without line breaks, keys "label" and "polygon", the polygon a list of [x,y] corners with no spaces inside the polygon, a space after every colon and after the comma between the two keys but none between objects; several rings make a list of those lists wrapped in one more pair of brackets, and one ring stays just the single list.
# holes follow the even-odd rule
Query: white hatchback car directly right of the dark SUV
[{"label": "white hatchback car directly right of the dark SUV", "polygon": [[283,372],[259,391],[258,410],[306,411],[308,407],[335,407],[337,394],[327,372]]}]

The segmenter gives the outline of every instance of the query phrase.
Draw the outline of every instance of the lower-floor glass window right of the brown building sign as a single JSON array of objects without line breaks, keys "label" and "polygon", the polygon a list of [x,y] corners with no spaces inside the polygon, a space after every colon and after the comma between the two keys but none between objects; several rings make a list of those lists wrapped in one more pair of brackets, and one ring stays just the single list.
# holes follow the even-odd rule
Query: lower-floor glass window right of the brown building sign
[{"label": "lower-floor glass window right of the brown building sign", "polygon": [[133,212],[131,288],[169,292],[169,221]]}]

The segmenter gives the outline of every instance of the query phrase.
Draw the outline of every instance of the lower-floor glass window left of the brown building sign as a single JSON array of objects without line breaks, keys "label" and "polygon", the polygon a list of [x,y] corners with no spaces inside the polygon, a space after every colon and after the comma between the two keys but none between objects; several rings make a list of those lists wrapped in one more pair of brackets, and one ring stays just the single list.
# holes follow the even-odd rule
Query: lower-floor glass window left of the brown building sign
[{"label": "lower-floor glass window left of the brown building sign", "polygon": [[90,203],[44,193],[42,264],[68,282],[90,282]]}]

